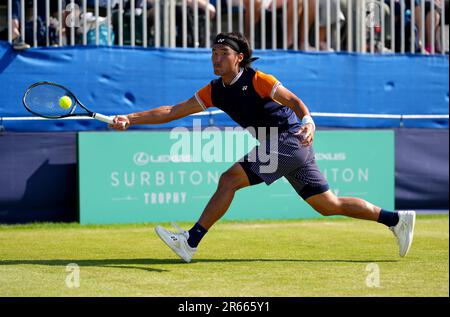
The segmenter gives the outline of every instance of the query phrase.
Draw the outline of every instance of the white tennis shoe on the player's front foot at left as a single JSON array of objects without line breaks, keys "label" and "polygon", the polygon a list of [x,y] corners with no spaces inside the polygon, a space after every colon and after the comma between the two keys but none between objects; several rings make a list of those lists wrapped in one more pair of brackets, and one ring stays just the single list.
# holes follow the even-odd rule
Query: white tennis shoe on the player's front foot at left
[{"label": "white tennis shoe on the player's front foot at left", "polygon": [[178,233],[169,231],[161,226],[156,226],[155,232],[173,252],[185,262],[189,263],[191,262],[195,251],[197,251],[197,248],[189,246],[187,242],[189,239],[189,232],[181,229],[175,223],[172,223],[172,226],[178,230]]}]

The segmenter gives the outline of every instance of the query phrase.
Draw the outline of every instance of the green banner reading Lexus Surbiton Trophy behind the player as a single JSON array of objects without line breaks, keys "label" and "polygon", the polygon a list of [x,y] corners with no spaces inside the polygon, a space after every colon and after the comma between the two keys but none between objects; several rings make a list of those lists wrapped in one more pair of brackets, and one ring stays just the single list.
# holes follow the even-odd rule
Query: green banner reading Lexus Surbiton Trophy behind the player
[{"label": "green banner reading Lexus Surbiton Trophy behind the player", "polygon": [[[81,132],[81,224],[196,221],[221,173],[257,141],[242,130]],[[393,131],[317,131],[317,163],[338,196],[394,209]],[[244,188],[223,219],[321,217],[282,178]]]}]

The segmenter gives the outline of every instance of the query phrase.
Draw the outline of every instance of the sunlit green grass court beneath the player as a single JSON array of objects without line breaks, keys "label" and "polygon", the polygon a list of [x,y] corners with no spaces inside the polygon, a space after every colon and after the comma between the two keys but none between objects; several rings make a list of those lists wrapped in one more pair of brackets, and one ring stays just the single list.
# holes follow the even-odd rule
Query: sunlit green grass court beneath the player
[{"label": "sunlit green grass court beneath the player", "polygon": [[[154,224],[0,226],[0,296],[449,296],[448,221],[418,216],[405,258],[373,222],[223,221],[190,264]],[[66,285],[69,263],[79,287]]]}]

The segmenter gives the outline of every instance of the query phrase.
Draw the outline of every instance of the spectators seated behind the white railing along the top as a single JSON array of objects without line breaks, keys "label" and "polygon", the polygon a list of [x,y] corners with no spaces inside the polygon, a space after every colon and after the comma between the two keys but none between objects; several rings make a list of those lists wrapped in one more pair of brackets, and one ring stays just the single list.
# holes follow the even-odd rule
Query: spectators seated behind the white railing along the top
[{"label": "spectators seated behind the white railing along the top", "polygon": [[[30,45],[33,44],[34,37],[33,37],[33,0],[23,0],[25,1],[25,32],[24,34],[21,34],[21,13],[20,13],[20,0],[12,0],[12,40],[14,43],[14,47],[16,49],[25,49],[30,47]],[[142,34],[142,22],[143,22],[143,15],[145,14],[143,11],[143,5],[144,1],[147,2],[147,36],[148,36],[148,45],[152,46],[154,45],[154,38],[155,38],[155,30],[154,30],[154,10],[155,10],[155,1],[154,0],[135,0],[134,5],[134,15],[135,15],[135,30],[136,30],[136,41],[135,45],[142,45],[143,43],[143,34]],[[160,0],[160,5],[164,5],[164,1],[168,0]],[[237,8],[240,4],[239,0],[231,0],[232,6],[233,6],[233,14],[237,16]],[[304,5],[303,1],[308,1],[308,12],[304,12]],[[317,15],[316,10],[316,1],[318,2],[319,7],[319,14]],[[349,2],[351,3],[352,10],[347,10]],[[356,27],[356,1],[358,0],[298,0],[298,7],[294,6],[294,1],[288,0],[286,4],[286,13],[287,13],[287,25],[288,28],[286,30],[286,37],[287,37],[287,43],[282,42],[282,36],[278,36],[277,38],[277,47],[283,48],[283,44],[285,48],[292,49],[294,47],[297,47],[300,50],[304,50],[305,43],[307,43],[307,48],[309,50],[333,50],[336,49],[337,44],[340,44],[340,50],[346,50],[347,47],[347,41],[349,40],[347,35],[347,25],[346,21],[349,19],[347,16],[350,12],[352,14],[352,20],[353,20],[353,28]],[[0,3],[2,5],[6,5],[6,0],[2,0]],[[182,45],[182,39],[181,39],[181,14],[182,14],[182,8],[181,8],[181,0],[177,0],[177,7],[176,7],[176,19],[177,19],[177,36],[176,36],[176,45],[181,46]],[[222,12],[222,21],[226,23],[227,19],[225,18],[226,14],[229,14],[228,6],[227,6],[227,0],[221,1],[221,12]],[[275,3],[273,3],[275,2]],[[340,43],[336,43],[336,37],[332,36],[329,39],[329,42],[327,42],[327,2],[329,3],[329,10],[331,12],[330,14],[330,21],[329,25],[331,26],[332,34],[336,34],[336,32],[339,32],[342,36],[340,37]],[[338,3],[339,2],[339,3]],[[63,6],[63,14],[59,16],[58,14],[58,1],[57,0],[50,0],[50,20],[49,23],[46,23],[46,7],[45,7],[46,1],[39,0],[37,1],[37,20],[35,22],[36,24],[36,41],[38,46],[45,46],[45,45],[66,45],[69,43],[70,38],[70,32],[72,28],[67,26],[67,23],[64,23],[64,27],[62,30],[59,29],[60,23],[59,19],[62,19],[63,21],[67,21],[68,16],[71,15],[72,17],[75,17],[78,21],[77,28],[76,29],[76,36],[75,36],[75,43],[82,43],[82,35],[84,28],[86,28],[87,36],[87,44],[95,44],[96,41],[100,45],[106,45],[108,43],[111,44],[118,44],[118,15],[119,15],[119,1],[118,0],[111,0],[111,29],[112,32],[107,33],[107,21],[106,21],[106,6],[107,1],[106,0],[99,0],[99,8],[100,8],[100,14],[99,14],[99,20],[97,21],[98,25],[100,26],[99,30],[99,39],[95,38],[95,32],[93,32],[93,28],[95,28],[96,25],[96,17],[93,14],[94,12],[94,0],[87,0],[87,7],[88,7],[88,13],[86,14],[85,19],[82,18],[81,12],[79,8],[82,8],[82,1],[81,0],[75,0],[74,3],[77,5],[73,9],[70,9],[69,11],[66,10],[66,5],[70,3],[70,1],[62,1]],[[198,43],[194,43],[194,37],[193,37],[193,19],[194,19],[194,0],[187,0],[187,21],[188,21],[188,40],[187,45],[188,46],[205,46],[205,18],[206,18],[206,10],[208,10],[209,17],[211,19],[210,27],[212,36],[215,33],[215,18],[216,18],[216,11],[217,11],[217,2],[215,0],[210,0],[208,3],[206,0],[198,0],[198,9],[199,9],[199,39]],[[266,12],[266,41],[267,43],[271,43],[271,18],[272,18],[272,9],[273,7],[277,10],[277,32],[280,32],[281,34],[283,32],[282,29],[282,12],[283,12],[283,0],[254,0],[254,13],[253,13],[253,21],[254,21],[254,31],[255,31],[255,47],[259,48],[261,45],[261,7],[264,7],[264,12]],[[405,0],[404,6],[402,10],[402,6],[400,5],[400,0],[394,1],[394,7],[391,7],[391,1],[390,0],[378,0],[380,9],[384,10],[384,16],[385,16],[385,29],[383,32],[385,32],[385,47],[378,47],[378,51],[395,51],[400,52],[401,51],[401,40],[404,39],[404,47],[407,49],[405,51],[409,52],[410,47],[414,47],[415,52],[423,52],[423,53],[429,53],[431,52],[431,47],[434,46],[435,52],[439,53],[444,50],[444,43],[441,43],[441,6],[445,3],[446,10],[449,8],[449,0],[435,0],[435,10],[434,10],[434,19],[432,18],[432,10],[431,10],[431,0],[424,0],[425,4],[425,21],[422,21],[422,15],[421,15],[421,0]],[[339,4],[339,6],[338,6]],[[412,4],[414,4],[414,8],[412,8]],[[250,37],[250,30],[251,30],[251,10],[250,10],[250,0],[243,0],[243,7],[244,7],[244,33],[247,37]],[[130,16],[131,16],[131,5],[130,1],[123,0],[123,8],[124,8],[124,14],[123,14],[123,44],[127,45],[130,44]],[[339,8],[339,10],[338,10]],[[294,11],[297,10],[297,13]],[[163,12],[161,10],[161,12]],[[293,32],[293,21],[294,16],[297,14],[297,21],[298,21],[298,37],[297,41],[298,43],[294,43],[294,32]],[[391,35],[390,30],[390,18],[392,14],[395,16],[395,32],[393,32]],[[304,24],[304,17],[307,16],[307,25],[305,29]],[[411,16],[414,15],[414,27],[411,28]],[[318,21],[316,21],[316,17],[318,16]],[[404,21],[404,36],[402,36],[402,28],[401,28],[401,17],[403,16]],[[161,23],[164,23],[164,17],[162,15],[161,17]],[[448,25],[448,14],[445,15],[445,24]],[[86,21],[86,25],[82,25],[82,22]],[[338,23],[339,22],[339,23]],[[422,23],[423,22],[423,23]],[[80,24],[81,23],[81,24]],[[3,23],[4,24],[4,23]],[[318,25],[318,39],[315,38],[315,27],[316,24]],[[48,26],[47,26],[48,25]],[[340,26],[338,29],[337,26]],[[425,29],[423,29],[422,25],[425,26]],[[48,27],[48,36],[47,36],[47,27]],[[375,36],[377,39],[380,37],[380,32],[382,31],[379,27],[379,25],[373,26],[375,28]],[[162,28],[161,28],[162,29]],[[236,25],[234,27],[236,30]],[[411,36],[411,29],[414,30],[414,35]],[[421,36],[422,32],[425,32],[425,36]],[[60,42],[59,34],[62,34],[62,43]],[[352,32],[353,36],[356,36],[356,32]],[[434,37],[431,36],[431,34],[434,34]],[[109,37],[109,38],[108,38]],[[305,40],[306,37],[306,40]],[[391,43],[391,39],[395,38],[394,43]],[[411,43],[411,39],[414,39],[414,43]],[[422,42],[422,38],[425,39],[424,42]],[[1,40],[7,40],[8,39],[8,30],[6,28],[6,25],[3,25],[3,30],[0,33],[0,39]],[[434,45],[432,45],[431,41],[434,39]],[[379,41],[378,41],[379,42]],[[377,42],[377,44],[379,44]],[[286,47],[287,44],[287,47]],[[294,45],[295,44],[295,45]],[[413,44],[413,45],[412,45]],[[271,48],[271,45],[267,45],[268,48]],[[446,52],[447,53],[447,52]]]}]

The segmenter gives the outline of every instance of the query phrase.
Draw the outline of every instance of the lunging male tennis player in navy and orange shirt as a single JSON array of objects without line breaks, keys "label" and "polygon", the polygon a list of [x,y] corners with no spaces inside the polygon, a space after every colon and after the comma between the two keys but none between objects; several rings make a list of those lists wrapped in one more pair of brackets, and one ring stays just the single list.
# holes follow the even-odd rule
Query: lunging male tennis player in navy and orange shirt
[{"label": "lunging male tennis player in navy and orange shirt", "polygon": [[[124,130],[135,124],[169,122],[214,106],[243,128],[267,128],[269,131],[270,127],[276,127],[278,130],[275,136],[256,135],[260,145],[221,175],[216,192],[189,231],[176,225],[179,232],[157,226],[155,231],[159,237],[179,257],[190,262],[200,240],[225,214],[237,190],[262,182],[270,185],[284,176],[297,193],[324,216],[343,215],[388,226],[397,238],[400,256],[405,256],[413,240],[415,212],[390,212],[359,198],[334,195],[314,159],[315,125],[308,108],[275,77],[251,68],[253,61],[252,50],[243,35],[221,33],[212,48],[214,74],[219,78],[175,106],[115,117],[111,127]],[[271,148],[273,144],[278,144],[275,150]],[[276,155],[275,169],[264,170],[267,162],[258,155],[262,147],[266,153]]]}]

